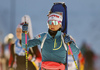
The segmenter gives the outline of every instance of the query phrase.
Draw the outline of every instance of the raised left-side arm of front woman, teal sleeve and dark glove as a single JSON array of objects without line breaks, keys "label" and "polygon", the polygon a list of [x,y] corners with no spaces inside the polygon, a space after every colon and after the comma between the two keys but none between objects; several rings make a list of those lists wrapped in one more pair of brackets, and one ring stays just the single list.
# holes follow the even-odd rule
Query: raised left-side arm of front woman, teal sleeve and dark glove
[{"label": "raised left-side arm of front woman, teal sleeve and dark glove", "polygon": [[[28,24],[24,24],[22,26],[22,39],[21,39],[23,48],[25,48],[25,32],[27,32],[27,31],[28,31]],[[29,47],[33,47],[33,46],[36,46],[36,45],[40,45],[41,41],[42,41],[43,34],[38,35],[35,39],[29,40],[28,43],[27,43],[27,47],[29,48]]]}]

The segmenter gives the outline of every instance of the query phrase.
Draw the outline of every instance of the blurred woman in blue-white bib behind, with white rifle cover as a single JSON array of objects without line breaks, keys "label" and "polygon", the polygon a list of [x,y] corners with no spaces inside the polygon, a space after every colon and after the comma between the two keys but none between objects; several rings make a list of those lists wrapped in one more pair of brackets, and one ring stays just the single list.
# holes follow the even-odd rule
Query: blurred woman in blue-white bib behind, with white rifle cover
[{"label": "blurred woman in blue-white bib behind, with white rifle cover", "polygon": [[[9,62],[9,67],[14,67],[16,68],[16,70],[25,70],[26,69],[26,56],[25,56],[25,49],[22,48],[21,45],[21,34],[22,34],[22,25],[24,23],[28,23],[28,39],[33,38],[32,36],[32,28],[31,28],[31,21],[30,21],[30,17],[25,15],[24,17],[22,17],[22,23],[20,23],[17,28],[16,28],[16,36],[17,36],[17,40],[16,42],[11,46],[11,56],[13,57],[10,58],[10,62]],[[34,65],[34,63],[32,62],[32,57],[35,58],[36,57],[36,61],[40,62],[41,61],[41,54],[38,50],[38,47],[35,46],[34,48],[27,48],[28,51],[28,70],[37,70],[36,65]],[[35,56],[35,57],[34,57]]]}]

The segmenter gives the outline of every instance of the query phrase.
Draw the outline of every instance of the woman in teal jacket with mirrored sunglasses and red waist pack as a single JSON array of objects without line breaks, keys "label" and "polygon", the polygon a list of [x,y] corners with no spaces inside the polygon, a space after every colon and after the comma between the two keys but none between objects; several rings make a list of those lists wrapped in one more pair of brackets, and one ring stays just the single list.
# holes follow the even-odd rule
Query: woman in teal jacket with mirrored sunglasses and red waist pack
[{"label": "woman in teal jacket with mirrored sunglasses and red waist pack", "polygon": [[[65,70],[66,50],[64,43],[70,43],[74,55],[78,55],[79,49],[71,36],[65,35],[62,40],[62,12],[54,12],[48,15],[48,32],[41,33],[35,39],[28,41],[28,47],[36,45],[42,46],[42,65],[43,69]],[[23,25],[23,28],[26,27]],[[26,29],[27,31],[27,29]],[[22,47],[25,48],[25,34],[22,33]],[[45,39],[45,40],[44,40]],[[67,45],[66,45],[67,46]],[[68,47],[66,47],[68,48]],[[56,65],[56,66],[55,66]],[[60,66],[61,65],[61,66]],[[51,66],[51,67],[50,67]],[[56,67],[56,68],[55,68]]]}]

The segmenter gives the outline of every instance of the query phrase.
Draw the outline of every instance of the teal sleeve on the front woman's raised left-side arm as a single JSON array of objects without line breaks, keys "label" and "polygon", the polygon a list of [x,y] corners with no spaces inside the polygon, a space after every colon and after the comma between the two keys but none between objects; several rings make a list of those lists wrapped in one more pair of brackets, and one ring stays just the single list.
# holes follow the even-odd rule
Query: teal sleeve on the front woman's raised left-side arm
[{"label": "teal sleeve on the front woman's raised left-side arm", "polygon": [[[30,48],[36,45],[40,45],[43,37],[44,37],[44,33],[39,34],[34,39],[28,40],[27,47]],[[25,33],[22,33],[22,47],[25,48]]]}]

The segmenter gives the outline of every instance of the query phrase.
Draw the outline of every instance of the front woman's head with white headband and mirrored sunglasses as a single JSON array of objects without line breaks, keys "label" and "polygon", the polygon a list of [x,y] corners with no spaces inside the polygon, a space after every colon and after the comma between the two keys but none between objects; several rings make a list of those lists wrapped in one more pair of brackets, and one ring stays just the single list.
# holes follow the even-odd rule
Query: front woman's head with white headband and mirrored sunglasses
[{"label": "front woman's head with white headband and mirrored sunglasses", "polygon": [[61,28],[62,24],[62,14],[60,13],[51,13],[48,15],[48,27],[52,31],[57,31]]}]

